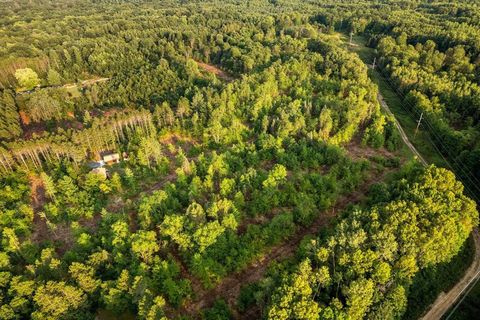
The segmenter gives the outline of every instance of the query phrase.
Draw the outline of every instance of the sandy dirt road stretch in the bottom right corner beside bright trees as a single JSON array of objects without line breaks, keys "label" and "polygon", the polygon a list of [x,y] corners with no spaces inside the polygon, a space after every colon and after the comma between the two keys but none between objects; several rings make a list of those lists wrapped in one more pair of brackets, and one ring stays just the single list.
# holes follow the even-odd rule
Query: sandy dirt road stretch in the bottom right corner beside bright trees
[{"label": "sandy dirt road stretch in the bottom right corner beside bright trees", "polygon": [[467,269],[463,278],[447,293],[442,292],[432,304],[430,310],[423,316],[423,320],[438,320],[455,304],[460,296],[480,275],[480,235],[478,230],[473,232],[475,241],[475,257],[472,265]]}]

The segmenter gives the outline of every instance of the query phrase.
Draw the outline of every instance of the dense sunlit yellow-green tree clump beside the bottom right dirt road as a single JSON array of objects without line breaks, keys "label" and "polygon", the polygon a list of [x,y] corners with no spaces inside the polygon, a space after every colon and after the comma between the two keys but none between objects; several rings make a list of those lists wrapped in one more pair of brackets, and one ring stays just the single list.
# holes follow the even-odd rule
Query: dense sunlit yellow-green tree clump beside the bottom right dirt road
[{"label": "dense sunlit yellow-green tree clump beside the bottom right dirt road", "polygon": [[421,269],[449,261],[478,223],[453,173],[414,170],[368,210],[305,244],[267,311],[271,319],[396,319]]}]

